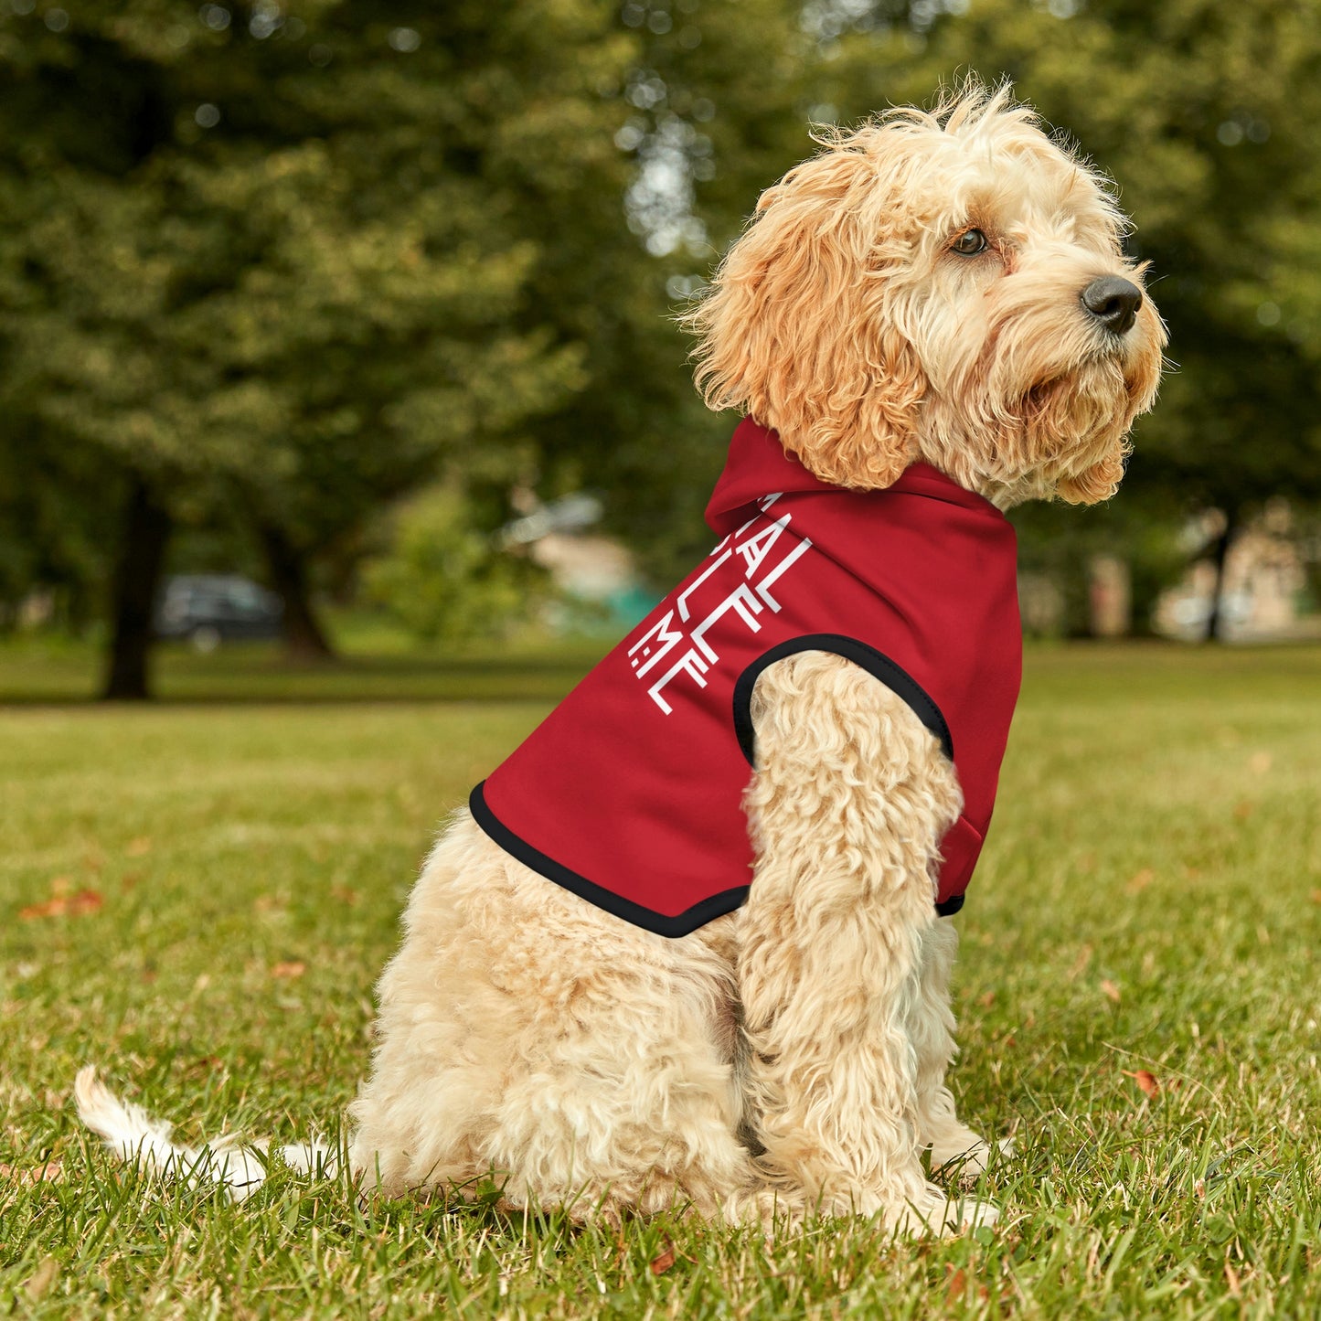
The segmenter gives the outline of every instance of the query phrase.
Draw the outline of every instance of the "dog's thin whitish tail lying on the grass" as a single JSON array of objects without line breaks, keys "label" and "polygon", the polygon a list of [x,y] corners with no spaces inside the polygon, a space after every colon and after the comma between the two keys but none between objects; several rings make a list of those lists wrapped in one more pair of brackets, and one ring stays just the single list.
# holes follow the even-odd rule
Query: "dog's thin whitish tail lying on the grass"
[{"label": "dog's thin whitish tail lying on the grass", "polygon": [[[250,1197],[266,1180],[268,1141],[242,1143],[230,1136],[202,1147],[180,1147],[170,1141],[170,1124],[152,1119],[141,1106],[120,1100],[96,1077],[95,1065],[78,1070],[74,1100],[78,1118],[120,1160],[152,1173],[181,1178],[189,1188],[221,1186],[235,1202]],[[338,1168],[338,1153],[322,1141],[279,1151],[284,1162],[303,1174],[334,1174]]]}]

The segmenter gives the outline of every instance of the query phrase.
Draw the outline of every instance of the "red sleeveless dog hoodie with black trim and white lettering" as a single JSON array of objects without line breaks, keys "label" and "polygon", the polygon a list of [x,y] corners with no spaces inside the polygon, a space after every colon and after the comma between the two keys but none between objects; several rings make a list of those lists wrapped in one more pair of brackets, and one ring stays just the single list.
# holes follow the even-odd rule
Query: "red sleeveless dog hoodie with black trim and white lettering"
[{"label": "red sleeveless dog hoodie with black trim and white lettering", "polygon": [[686,935],[748,897],[757,676],[831,651],[902,697],[954,760],[964,806],[935,906],[958,911],[1022,668],[1012,526],[926,464],[885,490],[831,486],[750,419],[707,523],[721,538],[707,559],[473,790],[477,823],[608,913]]}]

